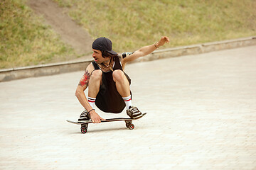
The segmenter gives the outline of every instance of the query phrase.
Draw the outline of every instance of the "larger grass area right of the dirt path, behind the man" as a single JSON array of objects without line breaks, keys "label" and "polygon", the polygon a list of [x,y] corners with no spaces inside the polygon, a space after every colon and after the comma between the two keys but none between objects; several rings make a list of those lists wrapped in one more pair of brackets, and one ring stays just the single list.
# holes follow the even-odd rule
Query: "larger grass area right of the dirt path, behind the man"
[{"label": "larger grass area right of the dirt path, behind the man", "polygon": [[109,37],[118,52],[167,35],[165,47],[241,38],[256,33],[255,0],[55,0],[90,34]]}]

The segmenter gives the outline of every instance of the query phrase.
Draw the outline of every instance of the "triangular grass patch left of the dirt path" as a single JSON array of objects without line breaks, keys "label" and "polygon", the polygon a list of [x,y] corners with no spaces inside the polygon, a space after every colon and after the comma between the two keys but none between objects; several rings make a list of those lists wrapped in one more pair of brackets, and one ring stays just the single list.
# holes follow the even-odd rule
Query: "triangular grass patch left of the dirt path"
[{"label": "triangular grass patch left of the dirt path", "polygon": [[0,2],[0,69],[62,61],[74,56],[26,1]]}]

